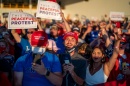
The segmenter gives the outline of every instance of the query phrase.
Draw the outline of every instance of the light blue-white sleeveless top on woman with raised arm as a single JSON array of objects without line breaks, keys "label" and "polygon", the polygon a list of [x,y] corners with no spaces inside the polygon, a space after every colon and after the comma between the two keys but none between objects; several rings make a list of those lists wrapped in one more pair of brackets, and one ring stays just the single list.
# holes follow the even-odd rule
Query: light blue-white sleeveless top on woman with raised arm
[{"label": "light blue-white sleeveless top on woman with raised arm", "polygon": [[107,78],[108,78],[108,76],[105,75],[105,73],[103,71],[103,66],[94,75],[90,74],[89,66],[87,67],[86,79],[85,79],[85,82],[87,84],[86,86],[105,83],[107,81]]}]

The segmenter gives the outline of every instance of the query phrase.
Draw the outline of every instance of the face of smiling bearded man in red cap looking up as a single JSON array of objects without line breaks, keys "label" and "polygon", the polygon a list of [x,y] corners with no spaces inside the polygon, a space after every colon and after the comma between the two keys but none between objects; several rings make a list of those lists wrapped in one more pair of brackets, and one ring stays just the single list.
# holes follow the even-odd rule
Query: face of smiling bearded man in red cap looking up
[{"label": "face of smiling bearded man in red cap looking up", "polygon": [[68,36],[64,41],[64,45],[67,48],[73,48],[74,46],[76,46],[76,44],[77,44],[76,39],[72,36]]}]

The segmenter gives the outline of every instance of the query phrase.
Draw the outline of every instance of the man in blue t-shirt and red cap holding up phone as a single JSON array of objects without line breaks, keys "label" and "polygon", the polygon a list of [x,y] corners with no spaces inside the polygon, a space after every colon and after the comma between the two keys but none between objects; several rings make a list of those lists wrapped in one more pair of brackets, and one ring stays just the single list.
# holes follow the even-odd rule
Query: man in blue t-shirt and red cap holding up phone
[{"label": "man in blue t-shirt and red cap holding up phone", "polygon": [[32,34],[32,52],[20,57],[14,65],[15,86],[61,85],[60,61],[56,55],[45,52],[47,44],[43,31]]}]

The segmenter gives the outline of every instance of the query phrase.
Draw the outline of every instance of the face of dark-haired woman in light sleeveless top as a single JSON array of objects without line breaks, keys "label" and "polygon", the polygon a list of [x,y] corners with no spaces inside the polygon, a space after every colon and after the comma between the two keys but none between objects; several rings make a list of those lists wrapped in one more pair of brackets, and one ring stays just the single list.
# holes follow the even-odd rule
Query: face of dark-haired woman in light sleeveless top
[{"label": "face of dark-haired woman in light sleeveless top", "polygon": [[103,53],[99,48],[95,48],[92,52],[92,59],[94,62],[100,62],[103,58]]}]

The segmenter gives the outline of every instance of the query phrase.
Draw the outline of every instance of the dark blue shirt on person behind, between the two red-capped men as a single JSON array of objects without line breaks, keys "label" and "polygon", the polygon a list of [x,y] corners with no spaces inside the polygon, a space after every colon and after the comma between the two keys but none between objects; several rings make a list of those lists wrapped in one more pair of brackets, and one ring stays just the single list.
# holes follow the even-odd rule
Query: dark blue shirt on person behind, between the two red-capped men
[{"label": "dark blue shirt on person behind, between the two red-capped men", "polygon": [[52,39],[56,42],[56,46],[59,48],[59,50],[56,52],[57,54],[62,54],[65,52],[65,46],[63,44],[63,36],[58,36],[57,38],[53,38],[50,35],[48,35],[49,39]]}]

